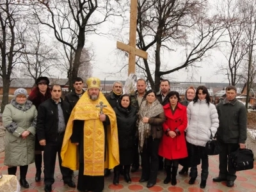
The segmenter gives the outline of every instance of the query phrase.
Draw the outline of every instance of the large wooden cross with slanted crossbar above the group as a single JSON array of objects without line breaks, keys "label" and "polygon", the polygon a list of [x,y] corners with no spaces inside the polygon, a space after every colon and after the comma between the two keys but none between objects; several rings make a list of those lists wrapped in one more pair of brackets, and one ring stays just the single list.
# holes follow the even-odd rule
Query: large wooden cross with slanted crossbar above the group
[{"label": "large wooden cross with slanted crossbar above the group", "polygon": [[136,48],[136,28],[137,28],[137,5],[138,0],[131,0],[131,12],[130,12],[130,35],[129,44],[123,44],[122,42],[116,42],[116,47],[123,51],[129,52],[129,74],[135,74],[135,59],[136,56],[147,60],[148,53]]}]

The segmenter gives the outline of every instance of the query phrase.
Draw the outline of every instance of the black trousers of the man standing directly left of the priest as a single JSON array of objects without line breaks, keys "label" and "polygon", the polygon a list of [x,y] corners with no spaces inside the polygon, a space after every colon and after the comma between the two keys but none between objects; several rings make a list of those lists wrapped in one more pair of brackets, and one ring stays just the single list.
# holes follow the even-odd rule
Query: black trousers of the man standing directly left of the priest
[{"label": "black trousers of the man standing directly left of the priest", "polygon": [[63,136],[58,136],[56,141],[46,141],[46,145],[44,147],[44,182],[45,184],[53,184],[54,183],[54,169],[56,163],[56,154],[58,153],[59,164],[60,164],[60,172],[62,174],[62,179],[64,182],[68,182],[72,180],[72,170],[61,166],[61,146],[63,142]]}]

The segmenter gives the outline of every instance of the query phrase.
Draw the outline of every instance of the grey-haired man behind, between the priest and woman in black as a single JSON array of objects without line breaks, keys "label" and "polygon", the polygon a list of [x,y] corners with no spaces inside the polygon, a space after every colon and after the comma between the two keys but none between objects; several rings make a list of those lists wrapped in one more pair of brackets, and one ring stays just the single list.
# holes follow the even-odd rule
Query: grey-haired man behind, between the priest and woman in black
[{"label": "grey-haired man behind, between the priest and woman in black", "polygon": [[[112,92],[106,96],[106,99],[108,100],[110,106],[114,109],[116,107],[116,104],[118,104],[120,97],[122,95],[122,91],[123,91],[123,84],[121,81],[115,81],[113,83],[113,88],[112,88]],[[122,173],[122,170],[121,170]],[[108,177],[108,175],[110,174],[110,170],[109,169],[105,169],[104,170],[104,176]]]}]

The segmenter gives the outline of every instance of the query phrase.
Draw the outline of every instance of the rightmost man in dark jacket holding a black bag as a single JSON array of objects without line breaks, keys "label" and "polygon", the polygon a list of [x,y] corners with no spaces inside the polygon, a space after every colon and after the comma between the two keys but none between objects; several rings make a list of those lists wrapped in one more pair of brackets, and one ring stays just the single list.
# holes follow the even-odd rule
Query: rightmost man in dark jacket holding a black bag
[{"label": "rightmost man in dark jacket holding a black bag", "polygon": [[212,179],[215,182],[227,180],[227,186],[232,188],[236,180],[236,170],[228,163],[228,156],[237,148],[245,148],[247,138],[247,113],[242,102],[236,99],[236,87],[227,86],[226,98],[217,105],[220,126],[217,140],[221,144],[219,155],[219,175]]}]

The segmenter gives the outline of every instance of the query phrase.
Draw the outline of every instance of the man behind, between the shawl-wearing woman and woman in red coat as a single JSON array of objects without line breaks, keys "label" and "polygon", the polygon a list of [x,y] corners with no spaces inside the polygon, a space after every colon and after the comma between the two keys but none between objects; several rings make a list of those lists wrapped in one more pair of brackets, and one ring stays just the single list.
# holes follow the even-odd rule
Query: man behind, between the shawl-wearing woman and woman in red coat
[{"label": "man behind, between the shawl-wearing woman and woman in red coat", "polygon": [[[168,97],[166,95],[170,92],[170,81],[168,79],[163,79],[160,82],[160,91],[157,93],[156,98],[159,100],[159,102],[162,104],[162,106],[165,106],[166,104],[169,103]],[[163,157],[158,156],[159,159],[159,170],[163,170],[164,168],[164,162],[163,162]]]}]

